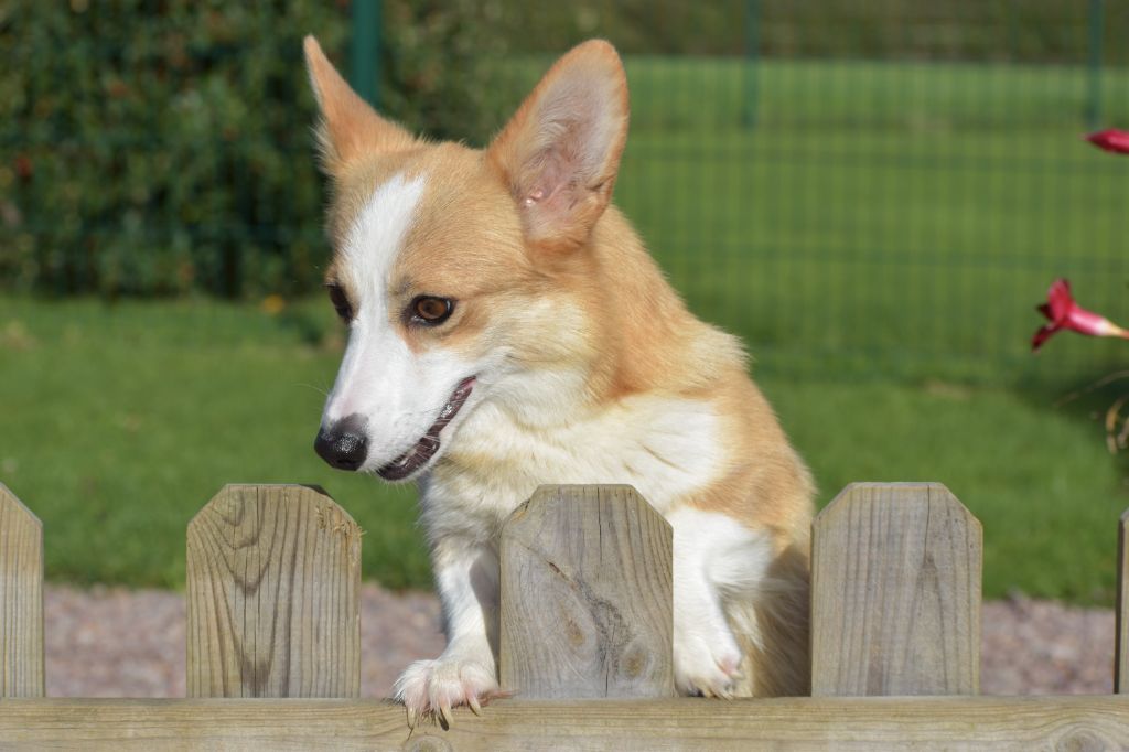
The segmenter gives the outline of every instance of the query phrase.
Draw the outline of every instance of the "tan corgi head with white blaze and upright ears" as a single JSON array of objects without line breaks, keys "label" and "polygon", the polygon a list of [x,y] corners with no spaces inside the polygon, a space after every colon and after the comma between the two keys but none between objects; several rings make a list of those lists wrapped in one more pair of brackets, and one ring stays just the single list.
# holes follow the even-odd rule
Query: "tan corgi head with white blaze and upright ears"
[{"label": "tan corgi head with white blaze and upright ears", "polygon": [[315,447],[404,480],[483,402],[551,411],[585,388],[606,305],[585,247],[627,139],[627,80],[610,44],[581,44],[479,151],[380,117],[305,46],[332,185],[325,283],[349,330]]}]

